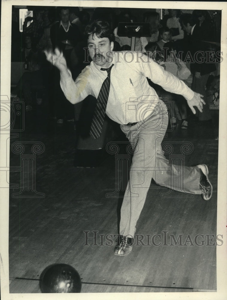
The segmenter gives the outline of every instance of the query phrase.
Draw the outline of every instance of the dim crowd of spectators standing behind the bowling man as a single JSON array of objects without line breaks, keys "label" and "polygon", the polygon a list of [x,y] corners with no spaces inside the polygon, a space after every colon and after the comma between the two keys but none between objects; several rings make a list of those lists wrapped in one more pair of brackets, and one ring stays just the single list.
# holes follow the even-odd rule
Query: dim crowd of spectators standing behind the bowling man
[{"label": "dim crowd of spectators standing behind the bowling man", "polygon": [[[60,88],[60,73],[47,61],[44,50],[59,48],[67,66],[75,79],[89,63],[84,48],[87,41],[85,27],[96,19],[107,21],[115,35],[113,51],[142,51],[156,61],[165,70],[183,80],[193,91],[204,95],[207,105],[203,113],[197,111],[199,122],[211,122],[209,104],[218,105],[217,97],[212,94],[219,91],[220,56],[208,61],[192,61],[190,55],[200,53],[196,58],[201,61],[202,52],[210,52],[211,58],[217,58],[220,52],[221,12],[216,10],[193,10],[182,13],[180,9],[163,10],[162,16],[155,10],[144,9],[140,15],[135,9],[118,9],[97,7],[93,10],[81,7],[35,7],[33,17],[28,16],[23,23],[23,32],[18,28],[18,11],[12,12],[12,48],[11,61],[23,61],[26,72],[23,73],[11,97],[24,98],[26,112],[34,109],[33,88],[37,87],[41,95],[47,93],[48,113],[56,119],[57,124],[68,121],[76,124],[79,119],[81,104],[72,105],[66,100]],[[161,19],[162,17],[162,19]],[[134,49],[131,49],[131,37],[121,36],[119,22],[149,23],[149,36],[136,37]],[[180,55],[179,55],[180,54]],[[213,55],[213,56],[212,56]],[[193,56],[193,57],[194,57]],[[177,58],[172,62],[172,57]],[[188,59],[187,59],[188,58]],[[86,62],[84,62],[86,61]],[[148,79],[149,80],[149,79]],[[164,91],[160,86],[155,88],[159,97],[169,102],[169,115],[172,126],[188,127],[188,108],[182,96]],[[214,99],[214,97],[215,99]],[[215,100],[215,103],[214,103]]]}]

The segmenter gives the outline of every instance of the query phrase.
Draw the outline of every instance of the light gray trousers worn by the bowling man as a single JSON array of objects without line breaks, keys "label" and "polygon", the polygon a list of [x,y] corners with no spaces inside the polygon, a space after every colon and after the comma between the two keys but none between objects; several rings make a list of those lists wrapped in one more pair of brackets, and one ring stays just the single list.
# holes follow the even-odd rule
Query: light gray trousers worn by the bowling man
[{"label": "light gray trousers worn by the bowling man", "polygon": [[136,145],[121,207],[119,232],[121,235],[134,236],[136,223],[143,209],[152,178],[161,186],[178,190],[177,180],[171,180],[171,176],[174,175],[175,178],[183,178],[184,192],[201,194],[198,167],[184,166],[183,171],[179,171],[179,168],[172,165],[170,172],[169,160],[164,157],[161,150],[167,125],[167,108],[162,101],[158,102],[153,112],[144,121],[133,126],[121,125],[121,130],[130,143]]}]

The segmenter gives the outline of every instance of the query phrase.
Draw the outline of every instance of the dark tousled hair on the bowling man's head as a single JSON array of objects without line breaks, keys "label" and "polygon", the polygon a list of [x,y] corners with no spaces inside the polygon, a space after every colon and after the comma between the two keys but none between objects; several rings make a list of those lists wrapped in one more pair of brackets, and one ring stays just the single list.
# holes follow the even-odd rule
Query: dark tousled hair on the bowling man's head
[{"label": "dark tousled hair on the bowling man's head", "polygon": [[108,38],[110,42],[114,42],[115,40],[114,34],[110,29],[108,22],[101,20],[96,20],[87,25],[84,34],[87,38],[89,38],[90,35],[96,35],[97,38]]}]

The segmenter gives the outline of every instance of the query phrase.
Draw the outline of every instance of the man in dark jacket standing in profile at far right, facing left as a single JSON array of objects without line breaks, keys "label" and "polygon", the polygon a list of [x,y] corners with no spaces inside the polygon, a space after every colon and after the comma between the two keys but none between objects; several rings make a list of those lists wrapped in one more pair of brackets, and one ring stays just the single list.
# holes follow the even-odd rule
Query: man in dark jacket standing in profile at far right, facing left
[{"label": "man in dark jacket standing in profile at far right, facing left", "polygon": [[[213,28],[208,14],[205,10],[194,10],[193,14],[185,13],[181,16],[183,29],[189,36],[188,50],[196,60],[190,63],[190,70],[193,74],[192,90],[204,96],[203,111],[196,110],[196,117],[199,122],[211,122],[211,112],[206,97],[206,83],[209,74],[216,70],[215,63],[207,62],[202,58],[202,52],[210,50],[209,43],[204,41],[214,41]],[[199,52],[200,51],[200,52]],[[197,55],[194,55],[197,52]]]}]

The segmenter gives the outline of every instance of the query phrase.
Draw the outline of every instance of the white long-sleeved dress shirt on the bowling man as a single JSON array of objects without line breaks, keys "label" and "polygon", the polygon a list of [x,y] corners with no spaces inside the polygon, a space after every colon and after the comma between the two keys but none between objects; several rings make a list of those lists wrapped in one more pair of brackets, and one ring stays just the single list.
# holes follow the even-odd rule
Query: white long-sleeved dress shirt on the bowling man
[{"label": "white long-sleeved dress shirt on the bowling man", "polygon": [[[143,55],[143,61],[138,55]],[[186,100],[194,96],[194,92],[184,82],[165,71],[142,52],[113,52],[112,58],[114,66],[111,69],[106,114],[119,124],[139,122],[154,110],[158,103],[158,95],[146,77],[166,91],[184,96]],[[100,69],[101,67],[92,61],[82,70],[75,82],[72,76],[61,76],[60,85],[66,98],[73,104],[84,100],[88,95],[97,99],[102,83],[107,77],[107,72]]]}]

